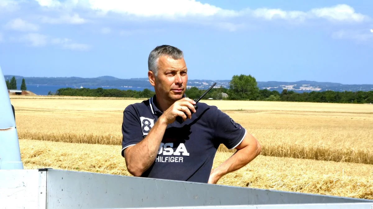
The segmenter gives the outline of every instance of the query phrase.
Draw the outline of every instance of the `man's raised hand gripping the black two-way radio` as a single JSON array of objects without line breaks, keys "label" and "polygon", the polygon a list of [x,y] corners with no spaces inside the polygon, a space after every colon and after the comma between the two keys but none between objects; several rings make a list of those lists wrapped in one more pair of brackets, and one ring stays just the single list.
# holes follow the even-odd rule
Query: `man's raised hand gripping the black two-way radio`
[{"label": "man's raised hand gripping the black two-way radio", "polygon": [[160,118],[164,119],[167,124],[173,123],[177,116],[182,117],[184,121],[187,118],[191,119],[191,111],[195,113],[194,105],[194,100],[189,98],[182,98],[181,100],[173,103],[166,111],[164,111]]}]

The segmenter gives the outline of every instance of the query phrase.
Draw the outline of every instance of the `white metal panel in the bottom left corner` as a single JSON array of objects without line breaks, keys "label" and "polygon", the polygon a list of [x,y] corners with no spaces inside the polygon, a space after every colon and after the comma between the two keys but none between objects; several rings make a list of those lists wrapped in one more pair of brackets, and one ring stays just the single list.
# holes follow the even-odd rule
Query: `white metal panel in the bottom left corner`
[{"label": "white metal panel in the bottom left corner", "polygon": [[0,170],[0,208],[38,209],[38,179],[38,170]]}]

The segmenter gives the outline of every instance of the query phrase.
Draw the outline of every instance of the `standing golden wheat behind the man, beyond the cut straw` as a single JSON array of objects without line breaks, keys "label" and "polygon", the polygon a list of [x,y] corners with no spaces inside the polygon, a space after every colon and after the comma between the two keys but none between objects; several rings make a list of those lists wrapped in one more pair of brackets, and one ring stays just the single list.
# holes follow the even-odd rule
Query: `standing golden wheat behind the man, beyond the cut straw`
[{"label": "standing golden wheat behind the man, beyond the cut straw", "polygon": [[[125,107],[142,101],[35,96],[11,99],[20,138],[112,145],[121,143]],[[373,164],[373,105],[201,102],[219,107],[245,127],[260,141],[262,155]],[[219,151],[229,152],[225,147]]]}]

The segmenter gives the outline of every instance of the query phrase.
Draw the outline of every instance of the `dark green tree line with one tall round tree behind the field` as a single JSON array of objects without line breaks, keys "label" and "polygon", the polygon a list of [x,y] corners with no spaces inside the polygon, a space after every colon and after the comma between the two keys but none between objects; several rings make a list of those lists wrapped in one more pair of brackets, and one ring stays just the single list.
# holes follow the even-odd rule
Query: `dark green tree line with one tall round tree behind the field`
[{"label": "dark green tree line with one tall round tree behind the field", "polygon": [[[197,99],[206,90],[197,87],[188,88],[185,94],[191,99]],[[51,93],[49,93],[51,94]],[[154,91],[145,88],[142,91],[119,89],[89,89],[89,88],[60,88],[55,95],[59,96],[91,96],[91,97],[129,97],[150,98]],[[283,89],[279,91],[259,89],[257,81],[251,75],[234,75],[229,89],[213,88],[203,99],[222,100],[261,100],[261,101],[288,101],[288,102],[329,102],[329,103],[373,103],[373,91],[311,91],[296,93]]]}]

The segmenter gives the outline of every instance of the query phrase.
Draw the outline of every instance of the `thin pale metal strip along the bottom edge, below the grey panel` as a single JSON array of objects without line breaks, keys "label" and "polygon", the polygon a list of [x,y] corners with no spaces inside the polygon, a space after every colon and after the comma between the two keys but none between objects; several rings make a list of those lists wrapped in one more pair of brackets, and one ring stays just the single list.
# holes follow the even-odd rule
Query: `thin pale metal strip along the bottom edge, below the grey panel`
[{"label": "thin pale metal strip along the bottom edge, below the grey panel", "polygon": [[[281,205],[223,205],[194,207],[160,207],[142,209],[372,209],[372,203],[326,203],[326,204],[281,204]],[[114,209],[114,208],[112,208]],[[119,208],[116,208],[119,209]],[[122,208],[124,209],[124,208]],[[126,208],[131,209],[131,208]]]}]

